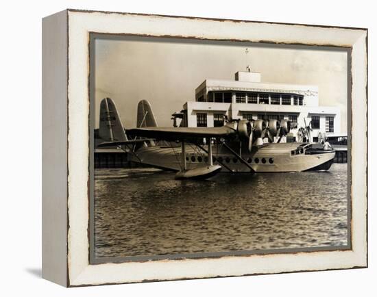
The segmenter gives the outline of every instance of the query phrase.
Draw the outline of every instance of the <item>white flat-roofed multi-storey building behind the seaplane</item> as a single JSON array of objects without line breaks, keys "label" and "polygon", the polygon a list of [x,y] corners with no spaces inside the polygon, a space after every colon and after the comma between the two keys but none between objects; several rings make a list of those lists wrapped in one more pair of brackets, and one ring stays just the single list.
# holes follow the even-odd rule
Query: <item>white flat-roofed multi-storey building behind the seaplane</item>
[{"label": "white flat-roofed multi-storey building behind the seaplane", "polygon": [[[300,127],[311,126],[311,142],[320,135],[339,135],[339,107],[319,106],[317,86],[263,83],[260,73],[237,72],[235,80],[206,79],[195,90],[195,101],[184,104],[188,127],[218,127],[232,119],[286,119],[297,122],[290,138],[303,141]],[[320,134],[321,133],[321,134]]]}]

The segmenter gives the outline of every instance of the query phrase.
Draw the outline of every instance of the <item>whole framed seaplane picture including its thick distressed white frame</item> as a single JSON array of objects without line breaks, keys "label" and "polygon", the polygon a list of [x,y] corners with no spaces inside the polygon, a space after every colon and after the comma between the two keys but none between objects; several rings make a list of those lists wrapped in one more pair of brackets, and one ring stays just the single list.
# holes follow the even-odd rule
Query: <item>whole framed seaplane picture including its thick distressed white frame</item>
[{"label": "whole framed seaplane picture including its thick distressed white frame", "polygon": [[367,268],[367,29],[222,17],[43,19],[44,279]]}]

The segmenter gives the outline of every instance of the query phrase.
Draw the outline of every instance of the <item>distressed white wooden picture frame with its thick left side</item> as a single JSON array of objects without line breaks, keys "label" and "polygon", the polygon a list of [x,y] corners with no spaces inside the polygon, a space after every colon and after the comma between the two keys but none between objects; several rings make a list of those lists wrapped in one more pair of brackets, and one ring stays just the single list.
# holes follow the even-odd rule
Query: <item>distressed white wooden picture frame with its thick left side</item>
[{"label": "distressed white wooden picture frame with its thick left side", "polygon": [[[90,33],[350,49],[348,250],[90,263]],[[66,287],[367,267],[367,29],[64,10],[43,19],[42,277]]]}]

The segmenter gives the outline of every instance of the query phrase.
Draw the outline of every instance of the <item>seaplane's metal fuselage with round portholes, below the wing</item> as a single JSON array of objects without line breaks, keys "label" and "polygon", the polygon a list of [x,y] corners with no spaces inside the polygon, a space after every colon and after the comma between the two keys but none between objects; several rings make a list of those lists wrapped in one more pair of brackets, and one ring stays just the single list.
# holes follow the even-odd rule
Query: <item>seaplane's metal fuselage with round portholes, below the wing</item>
[{"label": "seaplane's metal fuselage with round portholes, below the wing", "polygon": [[[209,164],[208,155],[195,145],[186,145],[187,169]],[[214,164],[223,164],[221,172],[250,172],[228,148],[212,145]],[[167,170],[181,170],[181,148],[175,146],[147,146],[139,148],[132,161],[141,162]],[[251,152],[242,152],[241,157],[255,172],[297,172],[305,170],[328,170],[335,157],[335,151],[311,148],[306,143],[265,144]]]}]

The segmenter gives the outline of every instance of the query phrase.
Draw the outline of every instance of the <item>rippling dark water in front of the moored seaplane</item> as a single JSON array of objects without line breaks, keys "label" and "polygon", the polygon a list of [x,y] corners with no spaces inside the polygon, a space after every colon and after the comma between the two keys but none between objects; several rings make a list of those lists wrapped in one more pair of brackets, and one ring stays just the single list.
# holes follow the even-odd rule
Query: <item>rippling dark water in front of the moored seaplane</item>
[{"label": "rippling dark water in front of the moored seaplane", "polygon": [[346,164],[213,181],[95,170],[95,257],[345,246],[346,194]]}]

